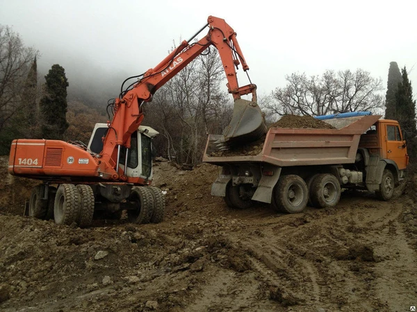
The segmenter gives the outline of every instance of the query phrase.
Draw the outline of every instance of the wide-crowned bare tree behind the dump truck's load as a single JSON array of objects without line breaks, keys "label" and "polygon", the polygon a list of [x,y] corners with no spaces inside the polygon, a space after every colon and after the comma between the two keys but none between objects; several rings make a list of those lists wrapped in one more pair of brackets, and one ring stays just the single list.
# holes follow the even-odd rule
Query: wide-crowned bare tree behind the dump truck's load
[{"label": "wide-crowned bare tree behind the dump truck's load", "polygon": [[381,78],[368,71],[325,71],[322,76],[305,73],[286,76],[288,84],[272,92],[265,107],[273,114],[317,116],[356,111],[375,111],[384,105]]}]

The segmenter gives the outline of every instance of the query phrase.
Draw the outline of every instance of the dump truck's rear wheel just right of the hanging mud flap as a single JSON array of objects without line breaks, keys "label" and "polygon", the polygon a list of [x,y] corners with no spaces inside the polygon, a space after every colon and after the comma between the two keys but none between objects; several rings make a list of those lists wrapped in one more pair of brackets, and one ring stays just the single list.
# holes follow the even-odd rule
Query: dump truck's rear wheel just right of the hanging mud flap
[{"label": "dump truck's rear wheel just right of the hanging mud flap", "polygon": [[272,205],[288,214],[302,212],[307,205],[309,190],[298,175],[283,175],[275,185]]}]

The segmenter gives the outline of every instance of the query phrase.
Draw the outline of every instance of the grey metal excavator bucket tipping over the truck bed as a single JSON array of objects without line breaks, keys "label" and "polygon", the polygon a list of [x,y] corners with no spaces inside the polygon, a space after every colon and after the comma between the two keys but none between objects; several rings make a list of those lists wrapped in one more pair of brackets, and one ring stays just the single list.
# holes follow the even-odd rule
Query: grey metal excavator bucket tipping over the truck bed
[{"label": "grey metal excavator bucket tipping over the truck bed", "polygon": [[238,99],[234,102],[233,114],[223,137],[214,143],[220,150],[256,141],[266,133],[265,119],[259,105],[252,101]]}]

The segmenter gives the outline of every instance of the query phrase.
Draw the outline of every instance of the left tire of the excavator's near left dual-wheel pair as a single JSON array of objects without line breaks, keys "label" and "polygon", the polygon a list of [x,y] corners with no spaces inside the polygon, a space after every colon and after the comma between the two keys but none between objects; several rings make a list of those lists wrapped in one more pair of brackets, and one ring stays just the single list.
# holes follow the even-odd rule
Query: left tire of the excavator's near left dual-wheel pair
[{"label": "left tire of the excavator's near left dual-wheel pair", "polygon": [[74,184],[60,184],[56,191],[54,220],[56,224],[71,225],[80,211],[80,193]]}]

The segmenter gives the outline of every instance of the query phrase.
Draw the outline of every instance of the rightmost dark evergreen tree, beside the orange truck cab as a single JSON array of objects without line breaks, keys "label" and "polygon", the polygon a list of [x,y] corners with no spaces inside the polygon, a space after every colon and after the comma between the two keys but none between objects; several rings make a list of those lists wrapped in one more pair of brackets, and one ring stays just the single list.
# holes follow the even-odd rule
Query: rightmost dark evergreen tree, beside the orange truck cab
[{"label": "rightmost dark evergreen tree, beside the orange truck cab", "polygon": [[407,132],[409,155],[417,156],[417,128],[416,128],[416,101],[413,101],[413,88],[407,75],[407,69],[402,70],[402,83],[398,83],[395,93],[396,114],[395,119],[401,125],[402,130]]}]

